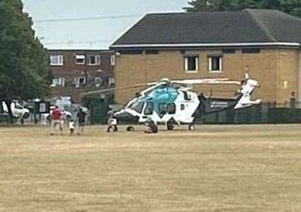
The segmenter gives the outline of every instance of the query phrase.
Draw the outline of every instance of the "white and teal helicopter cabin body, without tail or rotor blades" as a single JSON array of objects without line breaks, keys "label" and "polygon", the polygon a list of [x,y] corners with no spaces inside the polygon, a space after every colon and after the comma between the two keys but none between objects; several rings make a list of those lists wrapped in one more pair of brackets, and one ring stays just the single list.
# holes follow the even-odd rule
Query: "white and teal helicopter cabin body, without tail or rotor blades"
[{"label": "white and teal helicopter cabin body, without tail or rotor blades", "polygon": [[187,88],[160,86],[147,95],[130,101],[120,112],[115,113],[119,122],[143,124],[152,120],[156,124],[191,124],[198,109],[198,94]]}]

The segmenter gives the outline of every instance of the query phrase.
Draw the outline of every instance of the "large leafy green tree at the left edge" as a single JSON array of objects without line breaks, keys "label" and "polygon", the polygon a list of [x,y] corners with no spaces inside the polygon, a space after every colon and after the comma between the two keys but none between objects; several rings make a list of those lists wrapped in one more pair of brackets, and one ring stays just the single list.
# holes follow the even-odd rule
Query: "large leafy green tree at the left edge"
[{"label": "large leafy green tree at the left edge", "polygon": [[0,100],[42,98],[52,79],[49,55],[21,0],[0,0],[0,20]]}]

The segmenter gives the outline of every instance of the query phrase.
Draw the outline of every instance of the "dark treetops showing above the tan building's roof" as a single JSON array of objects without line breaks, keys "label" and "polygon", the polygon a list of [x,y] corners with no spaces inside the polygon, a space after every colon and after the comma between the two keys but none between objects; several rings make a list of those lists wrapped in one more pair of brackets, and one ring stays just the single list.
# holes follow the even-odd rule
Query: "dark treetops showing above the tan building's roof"
[{"label": "dark treetops showing above the tan building's roof", "polygon": [[194,11],[235,11],[244,8],[278,9],[293,16],[301,17],[300,0],[193,0],[183,7]]}]

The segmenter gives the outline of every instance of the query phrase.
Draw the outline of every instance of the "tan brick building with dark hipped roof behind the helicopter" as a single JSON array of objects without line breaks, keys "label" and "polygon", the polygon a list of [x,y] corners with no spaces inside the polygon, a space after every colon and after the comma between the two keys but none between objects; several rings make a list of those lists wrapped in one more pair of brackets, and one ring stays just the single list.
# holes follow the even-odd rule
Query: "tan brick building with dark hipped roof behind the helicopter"
[{"label": "tan brick building with dark hipped roof behind the helicopter", "polygon": [[[154,13],[116,40],[116,86],[160,78],[244,79],[261,83],[263,101],[301,100],[301,19],[276,10]],[[194,86],[205,95],[232,97],[237,86]],[[116,90],[127,102],[137,88]]]}]

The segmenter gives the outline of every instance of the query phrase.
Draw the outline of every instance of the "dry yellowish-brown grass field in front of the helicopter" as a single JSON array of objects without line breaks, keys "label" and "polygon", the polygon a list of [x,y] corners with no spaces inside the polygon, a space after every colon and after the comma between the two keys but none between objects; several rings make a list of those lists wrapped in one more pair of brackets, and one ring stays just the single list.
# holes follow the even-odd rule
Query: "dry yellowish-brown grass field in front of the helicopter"
[{"label": "dry yellowish-brown grass field in front of the helicopter", "polygon": [[0,128],[0,211],[301,211],[301,125],[49,133]]}]

